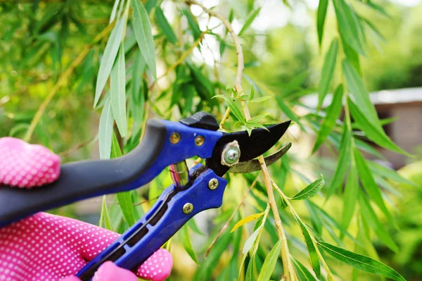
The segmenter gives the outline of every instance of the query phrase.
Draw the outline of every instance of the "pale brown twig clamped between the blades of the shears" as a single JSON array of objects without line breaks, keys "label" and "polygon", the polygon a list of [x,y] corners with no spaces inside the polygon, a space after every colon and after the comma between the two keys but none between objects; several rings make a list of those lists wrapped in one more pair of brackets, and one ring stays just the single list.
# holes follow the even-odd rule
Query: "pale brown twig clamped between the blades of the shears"
[{"label": "pale brown twig clamped between the blades of the shears", "polygon": [[[236,54],[237,54],[237,61],[238,61],[234,90],[236,93],[241,94],[243,92],[243,89],[242,89],[243,69],[245,68],[243,64],[243,51],[242,51],[242,45],[241,45],[240,39],[238,35],[236,35],[236,33],[234,32],[233,27],[231,26],[231,23],[229,22],[229,20],[224,18],[224,16],[220,15],[216,11],[206,8],[205,6],[203,6],[203,4],[199,4],[197,1],[186,0],[186,4],[195,4],[197,6],[200,6],[200,8],[202,8],[209,15],[214,16],[215,18],[219,18],[219,20],[222,20],[222,23],[224,24],[226,29],[229,31],[229,34],[233,38],[234,45],[236,46]],[[245,119],[250,120],[250,112],[249,112],[247,104],[245,104],[245,101],[242,101],[242,105],[243,105],[243,115],[245,115]],[[224,114],[222,121],[220,122],[220,128],[224,125],[224,122],[226,118],[228,118],[229,113],[230,111],[228,108],[226,110],[226,113]],[[274,215],[274,220],[275,220],[276,228],[277,228],[277,234],[279,235],[279,239],[281,239],[281,259],[283,260],[284,275],[286,276],[287,281],[293,281],[295,280],[294,270],[289,258],[290,254],[288,251],[286,233],[284,232],[283,223],[281,223],[279,210],[277,209],[276,201],[274,200],[274,192],[271,186],[271,182],[272,182],[271,176],[269,175],[267,165],[265,164],[264,156],[262,155],[259,156],[258,161],[260,161],[262,175],[264,177],[264,184],[265,184],[265,187],[267,189],[267,194],[268,194],[268,203],[271,206],[271,211]]]}]

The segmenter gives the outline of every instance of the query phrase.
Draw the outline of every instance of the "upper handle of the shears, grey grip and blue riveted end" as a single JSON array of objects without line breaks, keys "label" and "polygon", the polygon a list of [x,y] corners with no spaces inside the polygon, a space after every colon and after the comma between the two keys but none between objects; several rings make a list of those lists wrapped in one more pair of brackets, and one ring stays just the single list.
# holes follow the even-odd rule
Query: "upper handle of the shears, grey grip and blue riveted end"
[{"label": "upper handle of the shears, grey grip and blue riveted end", "polygon": [[[170,141],[173,133],[179,134],[179,142]],[[199,135],[205,139],[201,145],[195,142]],[[193,156],[210,158],[220,137],[222,132],[149,120],[141,144],[125,156],[63,165],[58,180],[44,187],[0,187],[0,227],[39,211],[141,187],[170,164]]]}]

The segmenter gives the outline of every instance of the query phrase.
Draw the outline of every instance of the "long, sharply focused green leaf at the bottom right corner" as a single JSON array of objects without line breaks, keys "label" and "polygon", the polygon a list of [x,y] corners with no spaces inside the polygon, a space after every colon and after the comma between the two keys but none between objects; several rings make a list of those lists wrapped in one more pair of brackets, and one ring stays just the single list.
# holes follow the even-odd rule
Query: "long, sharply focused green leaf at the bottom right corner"
[{"label": "long, sharply focused green leaf at the bottom right corner", "polygon": [[375,273],[377,275],[388,277],[392,280],[406,281],[402,275],[399,275],[399,273],[389,266],[385,266],[385,264],[369,258],[368,256],[356,254],[352,251],[347,251],[346,249],[341,249],[337,246],[324,242],[318,242],[318,244],[327,254],[330,254],[333,258],[336,258],[338,261],[342,261],[349,266],[368,273]]}]

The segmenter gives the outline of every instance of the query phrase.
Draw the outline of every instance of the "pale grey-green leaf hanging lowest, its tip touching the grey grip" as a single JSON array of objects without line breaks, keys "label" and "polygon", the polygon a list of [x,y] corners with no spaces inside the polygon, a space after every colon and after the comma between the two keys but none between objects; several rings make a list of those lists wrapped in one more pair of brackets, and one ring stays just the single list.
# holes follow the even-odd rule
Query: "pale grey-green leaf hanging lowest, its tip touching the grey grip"
[{"label": "pale grey-green leaf hanging lowest, its tip touching the grey grip", "polygon": [[98,144],[100,146],[100,158],[109,159],[111,151],[111,139],[113,135],[114,117],[111,111],[110,98],[106,99],[100,117],[100,127],[98,129]]}]

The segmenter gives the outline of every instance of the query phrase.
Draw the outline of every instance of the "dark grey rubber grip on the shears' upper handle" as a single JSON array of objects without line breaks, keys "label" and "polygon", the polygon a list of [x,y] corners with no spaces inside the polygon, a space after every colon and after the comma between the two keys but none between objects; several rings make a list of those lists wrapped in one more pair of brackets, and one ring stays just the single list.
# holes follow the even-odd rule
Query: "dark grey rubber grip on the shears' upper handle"
[{"label": "dark grey rubber grip on the shears' upper handle", "polygon": [[153,165],[166,135],[164,123],[149,120],[141,144],[125,156],[65,164],[58,180],[43,187],[0,187],[0,227],[39,211],[113,193],[117,187],[133,182]]}]

